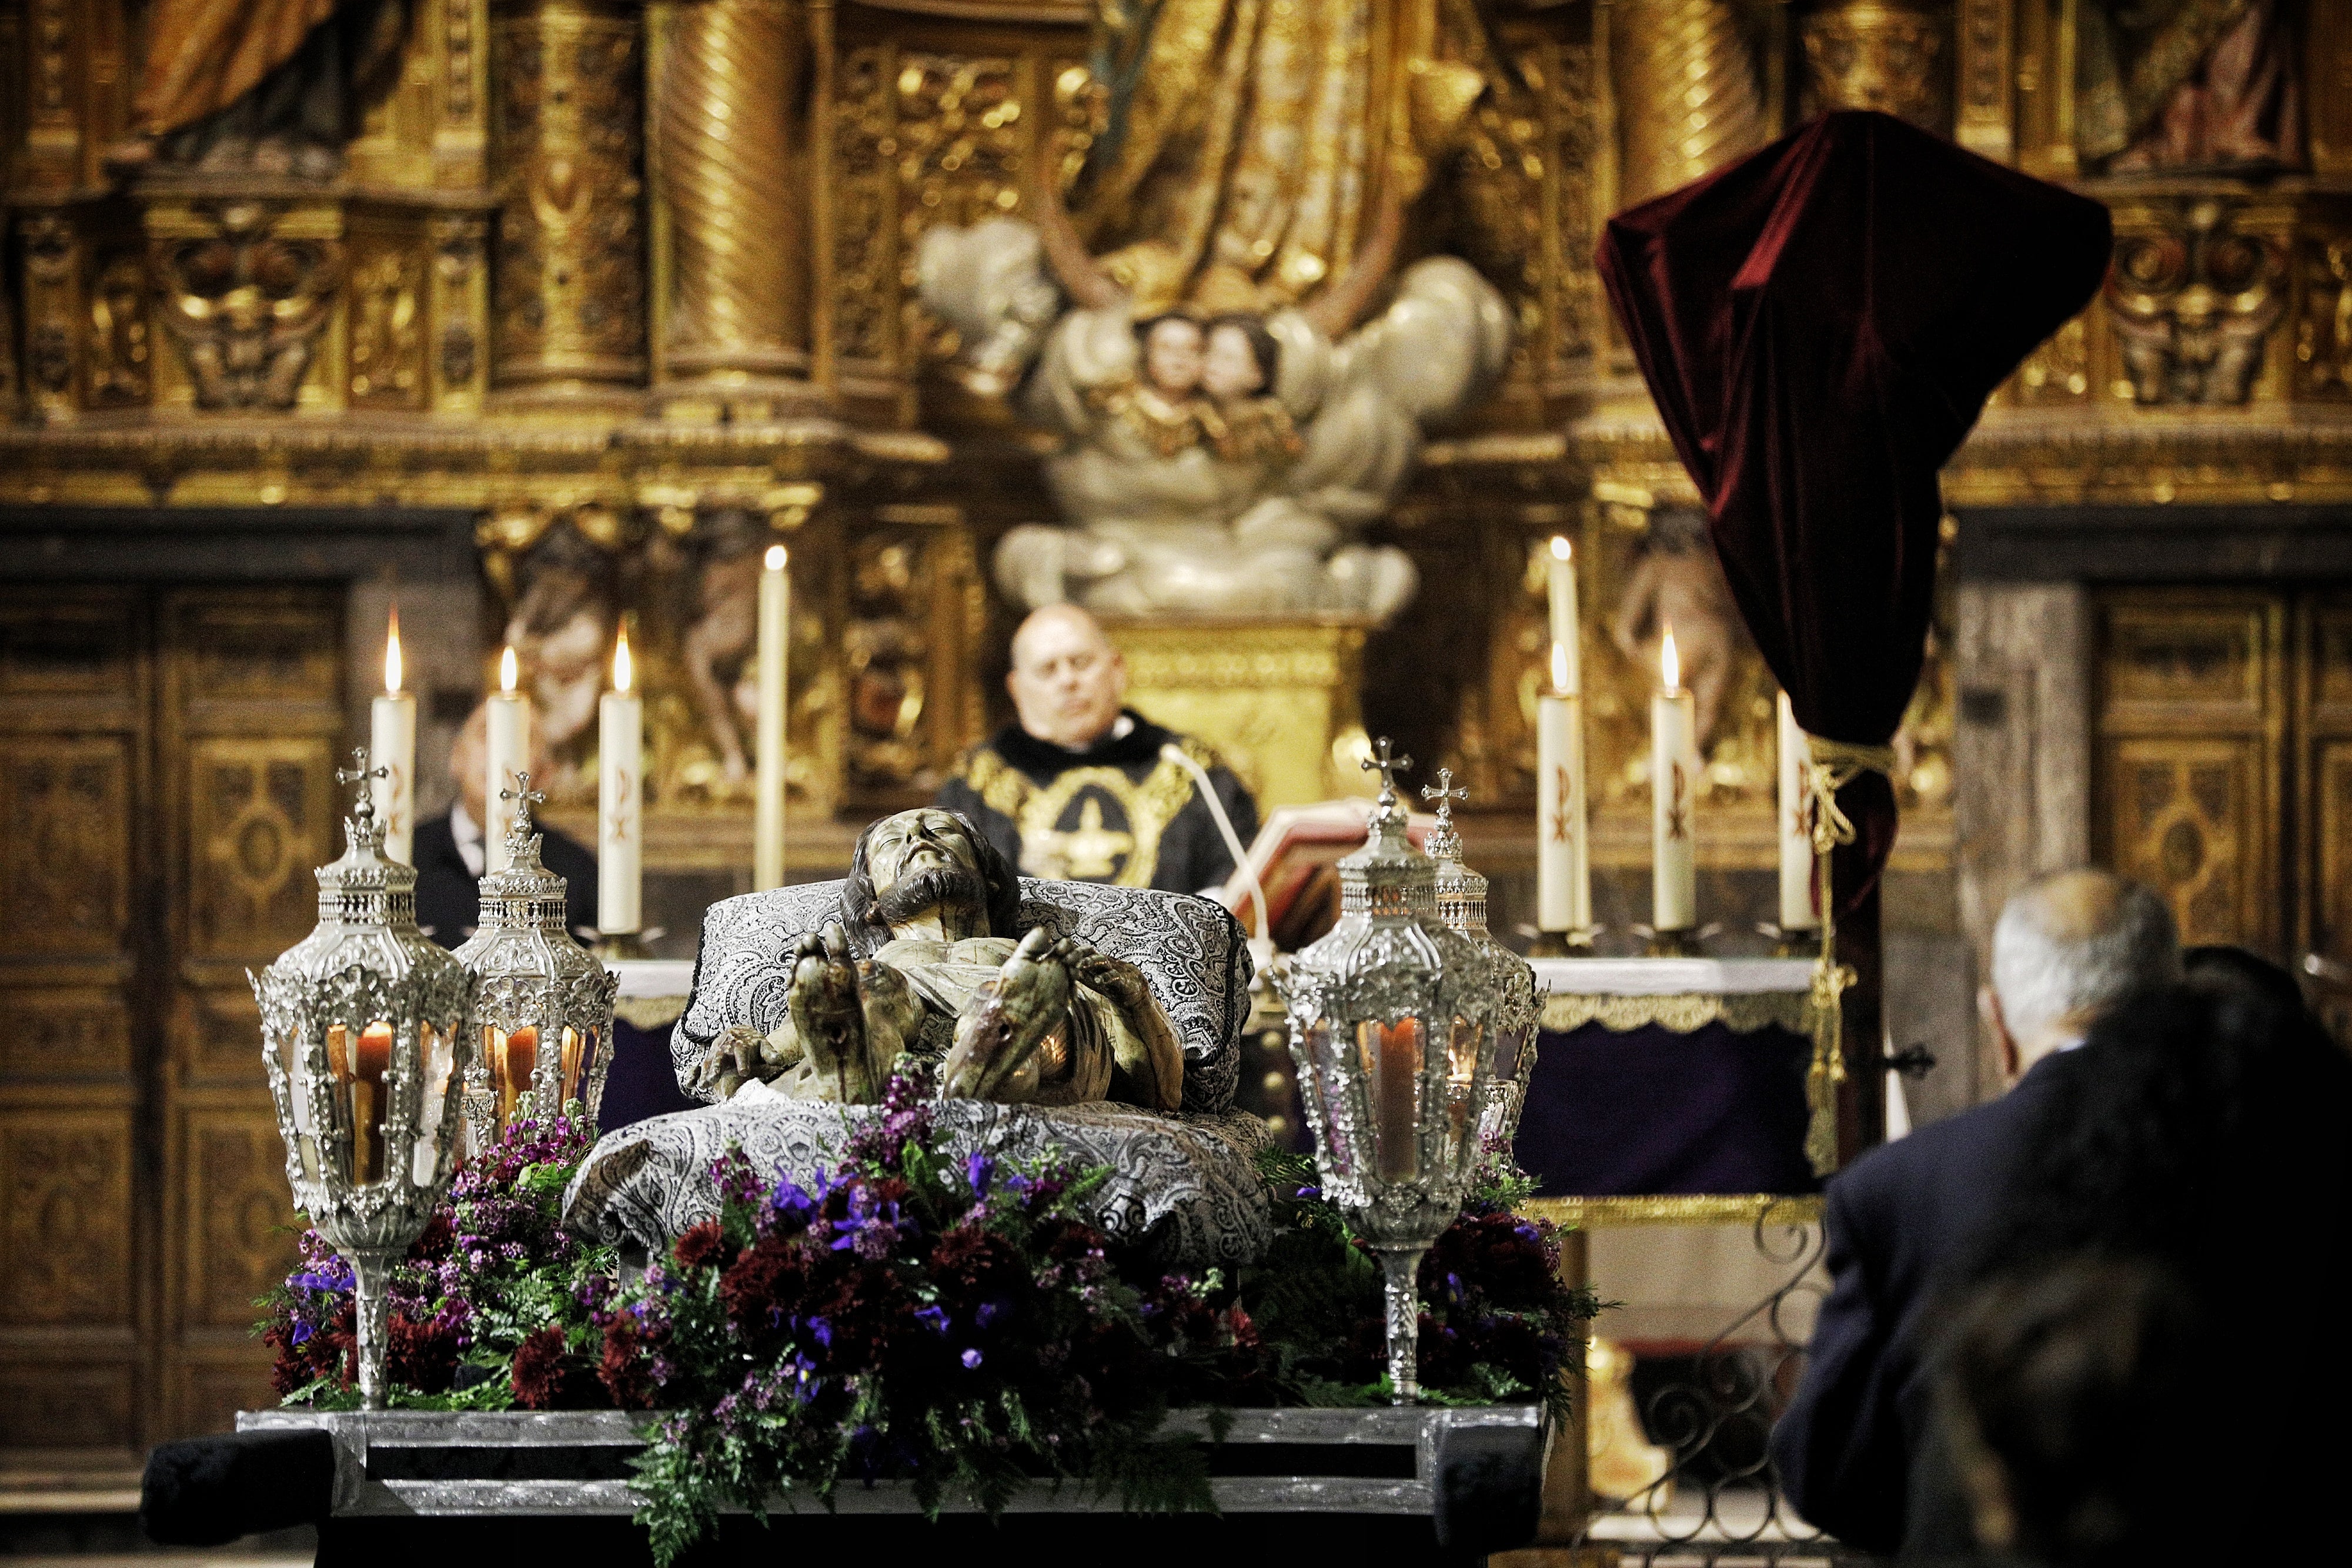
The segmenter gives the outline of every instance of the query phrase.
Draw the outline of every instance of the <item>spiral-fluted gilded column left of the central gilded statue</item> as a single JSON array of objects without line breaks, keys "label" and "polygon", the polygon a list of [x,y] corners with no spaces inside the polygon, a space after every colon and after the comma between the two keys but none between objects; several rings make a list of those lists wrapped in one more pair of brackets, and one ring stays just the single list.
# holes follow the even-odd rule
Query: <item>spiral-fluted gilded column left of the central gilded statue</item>
[{"label": "spiral-fluted gilded column left of the central gilded statue", "polygon": [[729,400],[809,395],[802,181],[788,106],[802,66],[788,0],[682,0],[652,14],[656,381]]}]

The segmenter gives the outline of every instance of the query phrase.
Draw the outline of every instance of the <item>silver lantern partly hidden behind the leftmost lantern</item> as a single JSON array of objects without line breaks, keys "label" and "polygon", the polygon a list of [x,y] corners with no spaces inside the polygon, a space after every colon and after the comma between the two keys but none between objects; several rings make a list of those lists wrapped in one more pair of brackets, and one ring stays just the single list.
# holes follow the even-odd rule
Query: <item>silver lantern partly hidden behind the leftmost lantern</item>
[{"label": "silver lantern partly hidden behind the leftmost lantern", "polygon": [[475,1053],[466,1074],[466,1124],[487,1150],[508,1121],[550,1121],[574,1100],[593,1124],[612,1063],[612,999],[621,978],[572,940],[564,879],[539,858],[532,776],[506,830],[506,870],[482,877],[482,924],[456,950],[475,992]]}]

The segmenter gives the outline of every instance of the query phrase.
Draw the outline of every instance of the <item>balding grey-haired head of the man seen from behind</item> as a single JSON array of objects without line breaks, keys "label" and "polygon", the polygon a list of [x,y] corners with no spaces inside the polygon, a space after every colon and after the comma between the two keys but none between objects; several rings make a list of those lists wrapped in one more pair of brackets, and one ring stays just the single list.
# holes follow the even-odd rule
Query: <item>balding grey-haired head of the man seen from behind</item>
[{"label": "balding grey-haired head of the man seen from behind", "polygon": [[2180,933],[2161,898],[2114,872],[2056,872],[2002,905],[1983,1009],[2016,1077],[2079,1044],[2124,997],[2178,978]]}]

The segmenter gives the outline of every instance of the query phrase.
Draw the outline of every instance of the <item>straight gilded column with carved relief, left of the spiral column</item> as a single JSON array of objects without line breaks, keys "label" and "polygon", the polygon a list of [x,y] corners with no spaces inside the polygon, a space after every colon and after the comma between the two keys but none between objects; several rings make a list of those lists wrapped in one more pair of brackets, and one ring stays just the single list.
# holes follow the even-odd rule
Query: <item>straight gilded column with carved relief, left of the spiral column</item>
[{"label": "straight gilded column with carved relief, left of the spiral column", "polygon": [[644,381],[637,26],[621,0],[496,9],[499,388],[581,395]]}]

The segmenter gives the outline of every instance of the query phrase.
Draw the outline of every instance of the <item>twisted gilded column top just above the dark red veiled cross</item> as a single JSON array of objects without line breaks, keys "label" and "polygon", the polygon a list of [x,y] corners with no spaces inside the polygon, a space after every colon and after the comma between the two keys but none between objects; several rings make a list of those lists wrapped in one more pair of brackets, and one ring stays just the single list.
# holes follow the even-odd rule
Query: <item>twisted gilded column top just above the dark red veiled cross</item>
[{"label": "twisted gilded column top just above the dark red veiled cross", "polygon": [[1769,115],[1755,49],[1731,0],[1621,0],[1611,75],[1621,207],[1764,146]]}]

